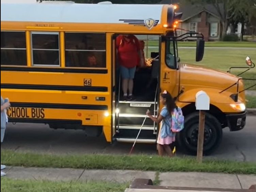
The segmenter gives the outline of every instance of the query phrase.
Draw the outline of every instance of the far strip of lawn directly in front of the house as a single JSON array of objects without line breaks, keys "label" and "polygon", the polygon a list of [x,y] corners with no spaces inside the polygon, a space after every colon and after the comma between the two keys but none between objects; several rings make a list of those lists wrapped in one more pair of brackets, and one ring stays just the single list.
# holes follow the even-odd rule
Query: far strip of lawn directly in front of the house
[{"label": "far strip of lawn directly in front of the house", "polygon": [[[158,41],[148,41],[148,46],[158,46]],[[196,42],[193,41],[182,41],[178,42],[178,46],[181,47],[195,47]],[[212,41],[205,42],[205,47],[255,47],[255,42],[223,42],[223,41]]]}]

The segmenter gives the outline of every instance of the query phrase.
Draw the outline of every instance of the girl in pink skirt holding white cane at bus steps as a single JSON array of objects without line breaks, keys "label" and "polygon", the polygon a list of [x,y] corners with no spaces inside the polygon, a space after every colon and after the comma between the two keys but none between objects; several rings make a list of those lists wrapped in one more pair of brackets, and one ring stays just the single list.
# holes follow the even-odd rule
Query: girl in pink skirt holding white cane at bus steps
[{"label": "girl in pink skirt holding white cane at bus steps", "polygon": [[170,145],[175,142],[175,133],[172,132],[172,112],[177,108],[174,99],[171,94],[167,91],[164,91],[160,95],[160,102],[164,107],[161,110],[158,118],[153,117],[150,114],[150,111],[147,110],[147,115],[152,121],[160,123],[160,130],[157,139],[157,149],[159,156],[163,156],[164,152],[169,156],[173,157],[173,152]]}]

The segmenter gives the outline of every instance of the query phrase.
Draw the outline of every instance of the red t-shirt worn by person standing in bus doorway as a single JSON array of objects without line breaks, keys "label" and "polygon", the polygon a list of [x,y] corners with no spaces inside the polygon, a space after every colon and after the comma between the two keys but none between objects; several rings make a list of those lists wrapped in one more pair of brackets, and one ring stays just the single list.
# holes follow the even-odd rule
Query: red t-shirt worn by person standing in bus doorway
[{"label": "red t-shirt worn by person standing in bus doorway", "polygon": [[127,68],[133,68],[139,64],[138,51],[140,50],[140,43],[134,35],[128,37],[119,35],[116,38],[116,48],[120,65]]}]

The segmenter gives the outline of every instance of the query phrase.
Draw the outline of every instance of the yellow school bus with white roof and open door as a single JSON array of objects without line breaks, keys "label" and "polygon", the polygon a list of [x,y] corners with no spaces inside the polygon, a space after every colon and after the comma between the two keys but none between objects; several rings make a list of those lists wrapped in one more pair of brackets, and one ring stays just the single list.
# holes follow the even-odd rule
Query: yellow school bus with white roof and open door
[{"label": "yellow school bus with white roof and open door", "polygon": [[[210,97],[204,153],[222,139],[222,129],[243,129],[243,80],[224,71],[180,62],[177,42],[197,39],[196,61],[204,54],[201,33],[177,36],[181,13],[173,5],[1,3],[1,95],[8,97],[10,122],[45,123],[51,128],[102,132],[107,142],[134,142],[150,109],[158,115],[159,94],[169,91],[185,115],[177,142],[188,153],[197,147],[195,95]],[[116,67],[119,34],[154,37],[151,61],[134,78],[136,101],[120,97]],[[152,51],[150,51],[152,49]],[[88,57],[97,62],[92,64]],[[152,80],[148,84],[149,79]],[[158,125],[146,119],[137,142],[156,143]]]}]

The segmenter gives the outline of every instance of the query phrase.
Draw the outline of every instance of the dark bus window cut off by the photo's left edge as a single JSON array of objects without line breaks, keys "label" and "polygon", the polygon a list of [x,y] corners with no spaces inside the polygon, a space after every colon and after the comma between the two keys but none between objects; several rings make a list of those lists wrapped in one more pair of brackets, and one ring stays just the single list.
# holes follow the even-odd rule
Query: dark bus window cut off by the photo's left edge
[{"label": "dark bus window cut off by the photo's left edge", "polygon": [[27,65],[25,32],[1,31],[1,65]]}]

